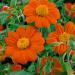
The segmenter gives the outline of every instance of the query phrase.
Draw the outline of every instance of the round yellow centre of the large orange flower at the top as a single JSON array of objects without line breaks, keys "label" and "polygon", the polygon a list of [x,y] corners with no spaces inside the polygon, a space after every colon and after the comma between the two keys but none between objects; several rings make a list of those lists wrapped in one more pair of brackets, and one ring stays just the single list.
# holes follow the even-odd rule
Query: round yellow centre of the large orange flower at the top
[{"label": "round yellow centre of the large orange flower at the top", "polygon": [[39,5],[36,8],[36,13],[39,16],[46,16],[46,15],[48,15],[48,7],[46,5]]}]

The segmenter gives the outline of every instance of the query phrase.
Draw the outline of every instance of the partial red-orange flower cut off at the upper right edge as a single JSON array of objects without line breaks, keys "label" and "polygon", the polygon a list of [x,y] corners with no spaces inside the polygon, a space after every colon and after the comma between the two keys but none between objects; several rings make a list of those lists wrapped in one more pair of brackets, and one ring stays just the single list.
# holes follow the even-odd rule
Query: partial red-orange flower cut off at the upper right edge
[{"label": "partial red-orange flower cut off at the upper right edge", "polygon": [[66,12],[70,15],[70,17],[75,17],[75,4],[66,3]]}]

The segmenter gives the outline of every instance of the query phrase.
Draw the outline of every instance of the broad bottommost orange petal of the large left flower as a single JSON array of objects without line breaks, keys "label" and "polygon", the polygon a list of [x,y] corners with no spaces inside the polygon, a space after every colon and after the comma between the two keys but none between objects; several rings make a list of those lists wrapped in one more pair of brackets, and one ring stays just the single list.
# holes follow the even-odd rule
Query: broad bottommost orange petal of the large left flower
[{"label": "broad bottommost orange petal of the large left flower", "polygon": [[26,51],[16,51],[12,55],[13,62],[26,64],[28,62],[28,53]]}]

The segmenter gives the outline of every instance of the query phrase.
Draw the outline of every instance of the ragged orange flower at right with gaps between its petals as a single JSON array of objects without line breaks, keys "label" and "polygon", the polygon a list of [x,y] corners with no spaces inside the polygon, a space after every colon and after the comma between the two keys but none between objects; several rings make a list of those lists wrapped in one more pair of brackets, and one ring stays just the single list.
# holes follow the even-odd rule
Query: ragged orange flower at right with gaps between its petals
[{"label": "ragged orange flower at right with gaps between its petals", "polygon": [[54,42],[60,42],[60,45],[54,47],[54,51],[58,54],[63,54],[68,49],[68,43],[71,36],[75,35],[75,24],[68,22],[65,27],[58,24],[56,25],[56,31],[48,34],[46,40],[47,44]]}]

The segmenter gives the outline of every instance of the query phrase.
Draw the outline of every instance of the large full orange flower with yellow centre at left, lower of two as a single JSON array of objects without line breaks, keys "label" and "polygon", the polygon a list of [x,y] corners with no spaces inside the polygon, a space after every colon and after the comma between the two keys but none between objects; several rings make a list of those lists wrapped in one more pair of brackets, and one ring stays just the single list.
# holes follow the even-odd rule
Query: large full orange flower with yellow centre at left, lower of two
[{"label": "large full orange flower with yellow centre at left, lower of two", "polygon": [[33,26],[26,28],[20,26],[16,32],[9,31],[5,41],[7,44],[5,56],[11,56],[15,63],[33,62],[37,59],[37,54],[44,50],[42,33]]}]

